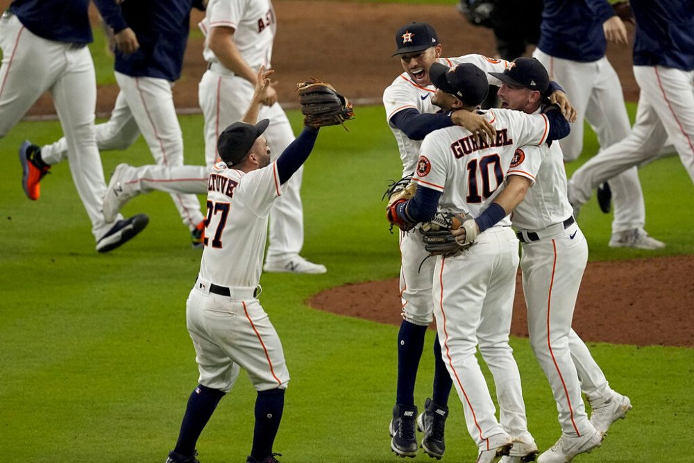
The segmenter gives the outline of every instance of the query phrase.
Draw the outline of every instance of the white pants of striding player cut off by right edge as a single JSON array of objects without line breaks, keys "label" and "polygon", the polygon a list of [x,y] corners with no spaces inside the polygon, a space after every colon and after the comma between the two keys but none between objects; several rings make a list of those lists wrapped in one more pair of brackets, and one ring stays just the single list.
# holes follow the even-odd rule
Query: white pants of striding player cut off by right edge
[{"label": "white pants of striding player cut off by right edge", "polygon": [[572,201],[585,203],[600,183],[657,158],[668,137],[694,182],[694,72],[634,66],[634,76],[641,87],[636,122],[624,140],[575,171],[568,183]]}]

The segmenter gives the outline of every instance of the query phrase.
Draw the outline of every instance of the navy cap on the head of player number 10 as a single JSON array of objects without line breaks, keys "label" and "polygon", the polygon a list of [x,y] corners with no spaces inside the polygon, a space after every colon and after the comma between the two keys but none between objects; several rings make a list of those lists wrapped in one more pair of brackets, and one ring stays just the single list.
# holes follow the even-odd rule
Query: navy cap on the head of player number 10
[{"label": "navy cap on the head of player number 10", "polygon": [[434,87],[457,96],[468,106],[477,106],[482,103],[489,92],[486,74],[469,62],[454,67],[434,62],[429,68],[429,76]]}]

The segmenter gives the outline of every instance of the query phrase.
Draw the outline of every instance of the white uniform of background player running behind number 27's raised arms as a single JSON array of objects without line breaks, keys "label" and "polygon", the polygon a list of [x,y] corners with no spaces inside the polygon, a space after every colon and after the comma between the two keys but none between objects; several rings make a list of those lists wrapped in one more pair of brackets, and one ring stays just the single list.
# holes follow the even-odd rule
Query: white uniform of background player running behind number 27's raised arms
[{"label": "white uniform of background player running behind number 27's raised arms", "polygon": [[[216,26],[234,29],[234,43],[248,66],[256,71],[260,66],[271,68],[276,18],[269,0],[210,0],[201,29],[207,33]],[[198,92],[205,115],[205,160],[210,165],[217,160],[219,133],[243,117],[251,102],[253,84],[221,65],[206,45],[203,56],[209,65]],[[291,125],[279,103],[263,106],[259,118],[272,121],[264,135],[275,159],[294,140]],[[303,167],[287,182],[287,193],[273,205],[268,260],[296,255],[303,246],[302,174]]]}]

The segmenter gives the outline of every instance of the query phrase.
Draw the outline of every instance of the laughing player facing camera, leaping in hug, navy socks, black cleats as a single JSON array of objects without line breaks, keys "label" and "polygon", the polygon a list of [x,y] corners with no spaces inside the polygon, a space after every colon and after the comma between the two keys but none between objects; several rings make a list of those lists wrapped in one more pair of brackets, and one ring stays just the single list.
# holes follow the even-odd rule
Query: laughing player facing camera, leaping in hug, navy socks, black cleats
[{"label": "laughing player facing camera, leaping in hug, navy socks, black cleats", "polygon": [[[429,68],[434,62],[455,66],[471,62],[486,71],[502,72],[507,62],[481,55],[466,55],[458,58],[440,58],[442,46],[434,28],[426,23],[405,24],[396,32],[396,53],[404,72],[384,90],[383,104],[387,121],[398,142],[403,176],[414,174],[419,156],[421,140],[437,128],[453,124],[465,126],[477,134],[495,136],[493,126],[486,119],[469,111],[438,112],[432,104],[435,93]],[[489,83],[500,85],[491,76]],[[561,90],[555,85],[555,90]],[[559,99],[565,110],[571,113],[561,91],[552,94]],[[423,351],[425,331],[433,319],[431,301],[434,262],[427,259],[421,239],[416,233],[400,233],[400,295],[403,303],[403,322],[398,333],[398,380],[396,405],[389,431],[391,450],[400,456],[413,457],[418,451],[415,435],[415,419],[424,431],[422,448],[428,455],[440,458],[446,449],[444,425],[448,416],[448,394],[450,376],[441,360],[438,338],[434,341],[434,390],[432,399],[425,402],[423,414],[417,416],[414,405],[414,384],[419,360]]]}]

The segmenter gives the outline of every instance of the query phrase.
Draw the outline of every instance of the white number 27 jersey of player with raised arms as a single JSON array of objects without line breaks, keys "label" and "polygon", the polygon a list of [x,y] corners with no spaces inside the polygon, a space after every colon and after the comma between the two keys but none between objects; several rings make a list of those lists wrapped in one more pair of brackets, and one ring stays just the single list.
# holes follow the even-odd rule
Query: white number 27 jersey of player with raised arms
[{"label": "white number 27 jersey of player with raised arms", "polygon": [[226,287],[257,286],[268,215],[284,185],[276,162],[247,173],[223,162],[214,166],[208,179],[201,277]]}]

